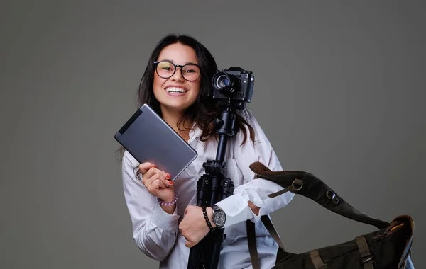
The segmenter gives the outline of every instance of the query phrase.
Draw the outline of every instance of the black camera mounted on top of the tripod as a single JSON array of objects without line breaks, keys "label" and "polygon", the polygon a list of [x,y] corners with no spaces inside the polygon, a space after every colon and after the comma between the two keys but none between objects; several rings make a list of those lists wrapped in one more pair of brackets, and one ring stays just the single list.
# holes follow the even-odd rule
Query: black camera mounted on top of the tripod
[{"label": "black camera mounted on top of the tripod", "polygon": [[217,70],[212,78],[213,89],[210,97],[217,99],[232,99],[236,101],[251,102],[254,88],[252,71],[241,67]]}]

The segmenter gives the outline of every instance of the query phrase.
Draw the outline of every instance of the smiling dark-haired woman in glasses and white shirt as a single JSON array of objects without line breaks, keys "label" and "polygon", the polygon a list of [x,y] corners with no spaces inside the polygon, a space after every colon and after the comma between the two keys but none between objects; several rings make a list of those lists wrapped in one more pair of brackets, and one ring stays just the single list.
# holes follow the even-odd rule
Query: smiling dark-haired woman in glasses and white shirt
[{"label": "smiling dark-haired woman in glasses and white shirt", "polygon": [[[141,251],[160,261],[160,268],[187,268],[190,247],[209,229],[224,227],[226,239],[219,268],[250,268],[247,219],[256,223],[256,242],[262,268],[275,264],[278,245],[261,222],[290,202],[290,192],[277,198],[269,193],[279,185],[254,178],[249,165],[261,161],[273,171],[282,170],[270,142],[249,110],[236,110],[238,132],[226,147],[226,174],[234,182],[234,195],[205,211],[196,205],[197,181],[205,173],[202,164],[213,160],[217,137],[213,120],[222,112],[212,98],[214,58],[200,42],[186,35],[168,35],[153,50],[138,91],[139,105],[150,105],[198,153],[197,159],[175,179],[155,164],[143,163],[124,152],[122,161],[126,204],[133,223],[133,238]],[[222,213],[224,219],[212,219]],[[207,215],[209,222],[204,218]]]}]

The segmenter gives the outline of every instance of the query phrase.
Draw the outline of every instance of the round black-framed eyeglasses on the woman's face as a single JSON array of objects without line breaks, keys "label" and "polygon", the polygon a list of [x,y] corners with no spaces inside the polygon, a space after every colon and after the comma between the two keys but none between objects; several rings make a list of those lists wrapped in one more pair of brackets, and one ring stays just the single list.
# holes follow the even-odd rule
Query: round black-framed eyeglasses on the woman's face
[{"label": "round black-framed eyeglasses on the woman's face", "polygon": [[163,79],[172,77],[178,67],[180,67],[180,74],[187,81],[196,81],[201,75],[200,67],[197,64],[179,65],[169,61],[159,61],[154,62],[154,67],[158,76]]}]

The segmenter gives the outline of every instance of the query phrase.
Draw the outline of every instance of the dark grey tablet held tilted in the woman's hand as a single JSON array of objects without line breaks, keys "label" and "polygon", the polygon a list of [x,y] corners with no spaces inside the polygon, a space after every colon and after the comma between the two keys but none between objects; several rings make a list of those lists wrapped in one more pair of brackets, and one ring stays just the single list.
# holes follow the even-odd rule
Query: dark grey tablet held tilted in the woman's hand
[{"label": "dark grey tablet held tilted in the woman's hand", "polygon": [[149,161],[174,181],[197,157],[197,151],[147,104],[116,132],[114,138],[140,163]]}]

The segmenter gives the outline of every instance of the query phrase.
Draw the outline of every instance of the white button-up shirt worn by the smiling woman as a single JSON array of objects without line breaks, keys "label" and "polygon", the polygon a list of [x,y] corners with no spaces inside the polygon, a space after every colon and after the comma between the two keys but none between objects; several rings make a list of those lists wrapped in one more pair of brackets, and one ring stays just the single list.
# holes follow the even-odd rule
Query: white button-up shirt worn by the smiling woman
[{"label": "white button-up shirt worn by the smiling woman", "polygon": [[[273,171],[282,171],[282,168],[270,142],[249,110],[237,110],[237,113],[253,127],[256,143],[253,145],[248,135],[246,143],[240,147],[244,138],[242,132],[228,139],[225,176],[231,178],[235,188],[234,195],[217,203],[226,213],[226,239],[222,244],[219,268],[251,268],[245,222],[247,219],[256,224],[261,268],[271,268],[275,265],[278,244],[259,220],[262,215],[287,205],[294,194],[288,192],[269,198],[268,194],[282,188],[271,181],[254,179],[255,175],[249,168],[254,161],[261,161]],[[174,214],[164,212],[156,198],[148,193],[145,185],[136,177],[138,161],[127,151],[123,156],[123,187],[133,223],[133,239],[143,253],[160,261],[160,268],[187,268],[190,248],[185,246],[185,238],[178,231],[178,226],[187,205],[197,203],[197,181],[205,173],[202,164],[207,159],[214,160],[217,152],[217,139],[212,137],[207,142],[202,142],[200,135],[199,128],[190,130],[188,143],[197,151],[198,156],[173,182],[175,192],[178,193]],[[249,200],[261,207],[258,216],[251,211]]]}]

